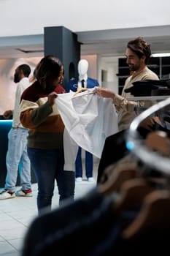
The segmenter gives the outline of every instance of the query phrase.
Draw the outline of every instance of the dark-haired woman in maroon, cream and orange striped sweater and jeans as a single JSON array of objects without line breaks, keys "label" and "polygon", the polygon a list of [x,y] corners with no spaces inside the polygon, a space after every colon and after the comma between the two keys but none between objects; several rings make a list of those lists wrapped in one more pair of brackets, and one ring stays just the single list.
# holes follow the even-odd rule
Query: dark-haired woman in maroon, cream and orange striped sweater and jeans
[{"label": "dark-haired woman in maroon, cream and orange striped sweater and jeans", "polygon": [[74,171],[63,170],[64,124],[56,107],[58,93],[65,92],[63,64],[55,56],[45,56],[34,69],[35,81],[26,89],[20,102],[20,121],[28,129],[28,157],[38,184],[38,213],[51,210],[58,185],[59,206],[63,200],[74,200]]}]

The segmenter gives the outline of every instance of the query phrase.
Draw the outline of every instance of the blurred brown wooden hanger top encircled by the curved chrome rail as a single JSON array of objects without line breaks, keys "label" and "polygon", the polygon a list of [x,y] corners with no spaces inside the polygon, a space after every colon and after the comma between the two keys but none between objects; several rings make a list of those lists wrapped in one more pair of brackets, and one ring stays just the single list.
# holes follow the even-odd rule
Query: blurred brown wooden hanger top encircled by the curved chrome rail
[{"label": "blurred brown wooden hanger top encircled by the curved chrome rail", "polygon": [[161,152],[165,157],[170,156],[170,140],[166,132],[156,131],[150,132],[144,140],[147,148]]}]

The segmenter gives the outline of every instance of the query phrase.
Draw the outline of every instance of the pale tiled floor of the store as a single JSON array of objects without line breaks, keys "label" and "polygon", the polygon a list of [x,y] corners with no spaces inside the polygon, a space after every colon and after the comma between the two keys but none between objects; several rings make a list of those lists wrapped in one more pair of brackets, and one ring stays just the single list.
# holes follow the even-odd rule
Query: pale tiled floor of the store
[{"label": "pale tiled floor of the store", "polygon": [[[98,160],[94,161],[93,177],[96,180]],[[83,178],[81,183],[76,183],[75,197],[80,197],[89,189],[96,186]],[[29,224],[37,216],[36,211],[36,184],[33,184],[33,197],[15,197],[0,200],[0,256],[20,256],[23,237]],[[53,208],[58,207],[58,189],[55,187]]]}]

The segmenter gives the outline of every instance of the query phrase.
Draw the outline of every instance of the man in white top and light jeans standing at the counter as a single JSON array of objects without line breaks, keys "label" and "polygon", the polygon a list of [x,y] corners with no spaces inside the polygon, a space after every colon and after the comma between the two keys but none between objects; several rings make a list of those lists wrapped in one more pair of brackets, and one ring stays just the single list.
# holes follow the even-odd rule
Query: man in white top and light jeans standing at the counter
[{"label": "man in white top and light jeans standing at the counter", "polygon": [[[18,83],[15,92],[14,110],[4,112],[4,118],[13,116],[12,128],[8,135],[7,149],[7,176],[4,189],[0,193],[0,200],[14,198],[15,196],[31,197],[31,165],[27,154],[28,129],[20,123],[20,96],[29,86],[28,76],[31,68],[27,64],[21,64],[15,69],[14,82]],[[21,189],[15,192],[15,186],[20,174]]]}]

